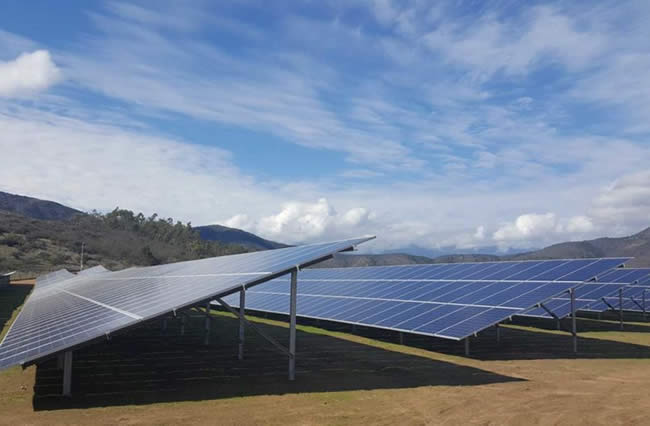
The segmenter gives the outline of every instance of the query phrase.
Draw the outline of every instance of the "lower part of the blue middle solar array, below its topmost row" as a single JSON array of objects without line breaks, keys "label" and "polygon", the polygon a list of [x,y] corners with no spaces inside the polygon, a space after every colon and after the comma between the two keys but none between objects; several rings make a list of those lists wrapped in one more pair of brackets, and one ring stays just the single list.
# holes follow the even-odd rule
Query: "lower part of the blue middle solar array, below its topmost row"
[{"label": "lower part of the blue middle solar array, below its topmost row", "polygon": [[[553,281],[331,281],[313,279],[324,272],[315,271],[301,273],[299,316],[457,340],[575,285]],[[246,307],[287,314],[288,300],[287,280],[273,280],[247,292]],[[226,302],[238,306],[239,299],[232,295]]]}]

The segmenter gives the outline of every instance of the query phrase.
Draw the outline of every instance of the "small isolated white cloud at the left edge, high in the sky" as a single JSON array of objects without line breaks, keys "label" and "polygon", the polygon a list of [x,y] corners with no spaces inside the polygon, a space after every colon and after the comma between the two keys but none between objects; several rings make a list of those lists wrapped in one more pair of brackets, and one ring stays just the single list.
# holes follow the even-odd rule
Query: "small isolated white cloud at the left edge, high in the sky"
[{"label": "small isolated white cloud at the left edge, high in the sky", "polygon": [[47,89],[61,80],[61,71],[46,50],[23,53],[0,61],[0,97],[13,97]]}]

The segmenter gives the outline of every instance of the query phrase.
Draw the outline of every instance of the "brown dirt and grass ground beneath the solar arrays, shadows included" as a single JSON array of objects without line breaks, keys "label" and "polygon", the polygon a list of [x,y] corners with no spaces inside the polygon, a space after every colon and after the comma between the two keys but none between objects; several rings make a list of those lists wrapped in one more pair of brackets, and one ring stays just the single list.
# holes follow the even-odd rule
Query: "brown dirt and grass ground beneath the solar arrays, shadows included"
[{"label": "brown dirt and grass ground beneath the solar arrays, shadows included", "polygon": [[[0,292],[4,332],[28,291]],[[0,372],[0,424],[650,424],[647,322],[580,319],[577,355],[555,324],[512,324],[465,357],[458,342],[305,321],[289,382],[252,330],[238,361],[234,318],[217,313],[204,346],[190,315],[184,335],[158,321],[76,351],[69,399],[54,361]],[[286,342],[284,323],[255,321]]]}]

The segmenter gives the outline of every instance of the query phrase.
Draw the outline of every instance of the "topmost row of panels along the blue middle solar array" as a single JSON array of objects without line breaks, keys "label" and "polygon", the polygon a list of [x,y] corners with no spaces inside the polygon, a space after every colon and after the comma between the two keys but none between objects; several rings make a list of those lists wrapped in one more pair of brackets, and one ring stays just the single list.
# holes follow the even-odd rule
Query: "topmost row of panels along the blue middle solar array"
[{"label": "topmost row of panels along the blue middle solar array", "polygon": [[538,260],[516,262],[439,263],[314,269],[311,279],[328,280],[486,280],[583,282],[615,268],[629,258]]}]

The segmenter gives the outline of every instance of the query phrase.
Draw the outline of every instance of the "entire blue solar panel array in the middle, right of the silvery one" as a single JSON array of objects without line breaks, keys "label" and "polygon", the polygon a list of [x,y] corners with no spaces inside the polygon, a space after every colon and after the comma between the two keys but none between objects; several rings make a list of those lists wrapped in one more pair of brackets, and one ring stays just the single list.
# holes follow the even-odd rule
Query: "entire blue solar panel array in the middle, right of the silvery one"
[{"label": "entire blue solar panel array in the middle, right of the silvery one", "polygon": [[[310,269],[299,275],[297,314],[460,340],[627,260]],[[288,291],[287,280],[265,283],[247,292],[246,308],[287,314]]]}]

